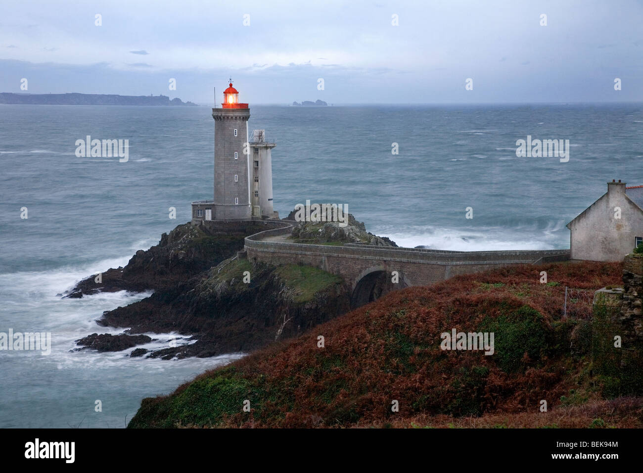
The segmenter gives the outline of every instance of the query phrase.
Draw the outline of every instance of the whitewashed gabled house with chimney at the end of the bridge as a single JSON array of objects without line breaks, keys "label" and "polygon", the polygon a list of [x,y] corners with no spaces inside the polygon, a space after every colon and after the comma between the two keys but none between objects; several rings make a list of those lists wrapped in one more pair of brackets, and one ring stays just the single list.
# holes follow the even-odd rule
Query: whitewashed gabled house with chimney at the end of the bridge
[{"label": "whitewashed gabled house with chimney at the end of the bridge", "polygon": [[621,261],[643,241],[643,185],[607,183],[607,192],[566,225],[571,259]]}]

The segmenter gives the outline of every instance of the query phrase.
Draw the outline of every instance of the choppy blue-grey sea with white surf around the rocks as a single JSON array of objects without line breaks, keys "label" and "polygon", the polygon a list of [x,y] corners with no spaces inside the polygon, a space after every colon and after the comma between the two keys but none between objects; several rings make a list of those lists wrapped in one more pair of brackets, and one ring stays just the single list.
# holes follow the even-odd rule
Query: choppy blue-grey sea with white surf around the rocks
[{"label": "choppy blue-grey sea with white surf around the rocks", "polygon": [[[280,216],[307,200],[343,204],[400,246],[569,248],[566,223],[607,181],[643,185],[643,104],[250,111],[249,129],[276,143]],[[77,157],[87,135],[129,140],[129,159]],[[569,140],[568,161],[517,157],[516,142],[528,135]],[[60,297],[88,275],[124,266],[189,221],[191,201],[212,198],[213,137],[207,106],[0,105],[0,332],[51,333],[50,354],[0,351],[0,427],[122,428],[141,399],[244,355],[73,351],[90,333],[121,333],[96,319],[149,294]],[[176,334],[148,335],[153,348]]]}]

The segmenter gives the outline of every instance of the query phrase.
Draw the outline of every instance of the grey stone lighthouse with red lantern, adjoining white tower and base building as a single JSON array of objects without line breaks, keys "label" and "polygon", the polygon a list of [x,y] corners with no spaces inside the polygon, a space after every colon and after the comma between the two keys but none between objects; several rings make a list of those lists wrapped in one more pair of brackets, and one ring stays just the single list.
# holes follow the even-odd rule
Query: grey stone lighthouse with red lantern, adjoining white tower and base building
[{"label": "grey stone lighthouse with red lantern, adjoining white tower and base building", "polygon": [[264,130],[248,130],[250,109],[232,81],[214,118],[214,199],[192,202],[192,223],[278,218],[273,211],[274,143]]}]

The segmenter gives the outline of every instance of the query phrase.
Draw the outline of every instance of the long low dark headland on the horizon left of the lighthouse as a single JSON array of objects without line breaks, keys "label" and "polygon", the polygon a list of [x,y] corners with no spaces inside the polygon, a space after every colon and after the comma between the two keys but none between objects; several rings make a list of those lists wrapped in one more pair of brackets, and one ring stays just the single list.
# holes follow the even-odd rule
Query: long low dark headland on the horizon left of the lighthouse
[{"label": "long low dark headland on the horizon left of the lighthouse", "polygon": [[19,105],[155,105],[197,106],[165,95],[106,95],[96,93],[12,93],[1,92],[0,104]]}]

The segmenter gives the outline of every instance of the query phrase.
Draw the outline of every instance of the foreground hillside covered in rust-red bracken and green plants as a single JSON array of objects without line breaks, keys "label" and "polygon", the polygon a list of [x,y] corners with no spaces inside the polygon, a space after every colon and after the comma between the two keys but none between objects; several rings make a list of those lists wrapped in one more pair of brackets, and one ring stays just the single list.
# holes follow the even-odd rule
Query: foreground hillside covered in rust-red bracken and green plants
[{"label": "foreground hillside covered in rust-red bracken and green plants", "polygon": [[[129,426],[641,427],[643,400],[604,400],[590,375],[588,310],[560,320],[565,286],[619,283],[617,263],[556,263],[390,293],[143,400]],[[440,350],[451,328],[494,331],[495,354]]]}]

